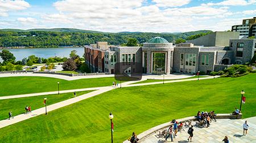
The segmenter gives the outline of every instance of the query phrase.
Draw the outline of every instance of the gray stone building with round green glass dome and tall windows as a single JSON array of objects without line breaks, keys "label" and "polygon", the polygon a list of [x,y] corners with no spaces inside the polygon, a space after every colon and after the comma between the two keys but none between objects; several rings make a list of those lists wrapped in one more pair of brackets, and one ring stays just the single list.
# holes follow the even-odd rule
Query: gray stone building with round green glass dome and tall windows
[{"label": "gray stone building with round green glass dome and tall windows", "polygon": [[[194,43],[181,43],[173,45],[162,37],[154,37],[143,47],[110,47],[104,51],[104,71],[114,74],[114,65],[117,62],[139,62],[142,64],[143,73],[147,74],[171,74],[187,73],[195,74],[198,71],[209,74],[213,71],[224,70],[233,64],[245,64],[250,62],[256,51],[256,39],[230,39],[227,42],[216,42],[219,39],[218,32],[213,36],[214,46],[201,46]],[[221,36],[226,35],[221,32]],[[239,36],[237,32],[228,32],[231,37]],[[209,36],[210,37],[210,36]],[[200,38],[199,38],[200,39]],[[212,41],[205,41],[210,45]],[[131,69],[125,70],[131,73]]]}]

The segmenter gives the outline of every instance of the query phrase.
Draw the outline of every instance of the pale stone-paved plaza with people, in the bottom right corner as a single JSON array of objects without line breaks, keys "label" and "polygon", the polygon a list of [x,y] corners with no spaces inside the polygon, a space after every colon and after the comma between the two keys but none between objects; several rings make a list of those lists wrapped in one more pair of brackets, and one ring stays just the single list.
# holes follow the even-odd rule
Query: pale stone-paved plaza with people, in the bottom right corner
[{"label": "pale stone-paved plaza with people, in the bottom right corner", "polygon": [[[242,125],[245,120],[248,121],[250,128],[247,136],[242,136]],[[217,122],[212,121],[209,128],[197,128],[195,127],[195,121],[192,122],[192,125],[194,125],[192,142],[222,142],[225,136],[228,136],[229,142],[256,142],[256,117],[239,120],[218,119]],[[174,142],[188,142],[188,128],[184,128],[184,130],[177,133]],[[159,136],[159,131],[157,131],[140,141],[140,143],[151,142],[171,142],[171,138],[169,137],[166,141],[165,138]]]}]

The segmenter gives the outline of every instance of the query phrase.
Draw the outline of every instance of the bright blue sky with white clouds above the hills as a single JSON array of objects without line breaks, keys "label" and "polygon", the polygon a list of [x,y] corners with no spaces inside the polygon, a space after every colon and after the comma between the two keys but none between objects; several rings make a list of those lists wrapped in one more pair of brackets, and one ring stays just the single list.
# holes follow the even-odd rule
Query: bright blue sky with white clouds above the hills
[{"label": "bright blue sky with white clouds above the hills", "polygon": [[256,0],[0,0],[0,29],[226,31],[256,16]]}]

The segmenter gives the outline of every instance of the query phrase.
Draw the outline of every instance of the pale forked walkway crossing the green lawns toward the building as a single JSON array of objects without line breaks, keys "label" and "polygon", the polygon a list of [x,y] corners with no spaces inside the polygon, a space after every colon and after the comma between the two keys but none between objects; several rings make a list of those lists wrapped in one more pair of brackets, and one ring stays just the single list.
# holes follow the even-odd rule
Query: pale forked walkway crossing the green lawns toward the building
[{"label": "pale forked walkway crossing the green lawns toward the building", "polygon": [[[205,77],[205,78],[200,78],[200,79],[203,80],[203,79],[210,79],[210,78],[215,78],[215,77]],[[165,83],[183,82],[183,81],[195,81],[195,80],[197,80],[197,78],[180,79],[180,80],[175,80],[175,81],[166,81]],[[150,83],[140,83],[140,84],[129,85],[129,84],[135,83],[135,82],[138,82],[138,81],[130,81],[130,82],[122,83],[122,87],[155,85],[155,84],[162,84],[163,83],[163,82],[150,82]],[[120,86],[120,84],[119,84],[119,86]],[[96,87],[96,88],[98,88],[98,90],[89,92],[88,94],[80,95],[80,96],[77,96],[76,98],[71,98],[71,99],[68,99],[68,100],[64,100],[64,101],[59,102],[59,103],[51,104],[51,105],[47,106],[47,111],[53,111],[53,110],[56,110],[58,108],[68,106],[70,104],[73,104],[73,103],[76,103],[76,102],[80,102],[81,100],[84,100],[84,99],[90,98],[92,96],[96,96],[96,95],[102,94],[104,92],[116,89],[118,87],[106,86],[106,87]],[[92,88],[89,88],[89,89],[92,90]],[[76,89],[75,91],[79,91],[79,90],[81,90],[81,89]],[[71,90],[68,90],[67,92],[70,92],[70,91]],[[57,91],[53,91],[52,93],[56,94],[56,92]],[[38,96],[38,95],[42,95],[42,94],[45,95],[46,92],[37,93],[37,94],[28,94],[28,95],[3,96],[2,98],[9,99],[9,97],[10,97],[10,99],[11,99],[11,98],[15,98],[15,96],[17,98],[20,98],[20,97],[24,97],[24,96]],[[11,124],[18,123],[18,122],[23,121],[23,120],[30,119],[31,117],[42,115],[43,113],[45,113],[45,108],[44,107],[32,111],[31,114],[21,114],[21,115],[18,115],[18,116],[14,116],[14,119],[11,119],[11,120],[1,120],[0,121],[0,128],[6,127],[6,126],[11,125]]]}]

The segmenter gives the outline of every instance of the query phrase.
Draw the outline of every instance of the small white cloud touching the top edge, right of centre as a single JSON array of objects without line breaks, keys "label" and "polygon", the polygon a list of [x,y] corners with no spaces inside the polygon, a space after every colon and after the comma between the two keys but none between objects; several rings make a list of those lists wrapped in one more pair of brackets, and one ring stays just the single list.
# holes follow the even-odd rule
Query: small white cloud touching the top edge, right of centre
[{"label": "small white cloud touching the top edge, right of centre", "polygon": [[191,0],[152,0],[159,7],[178,7],[187,5]]}]

